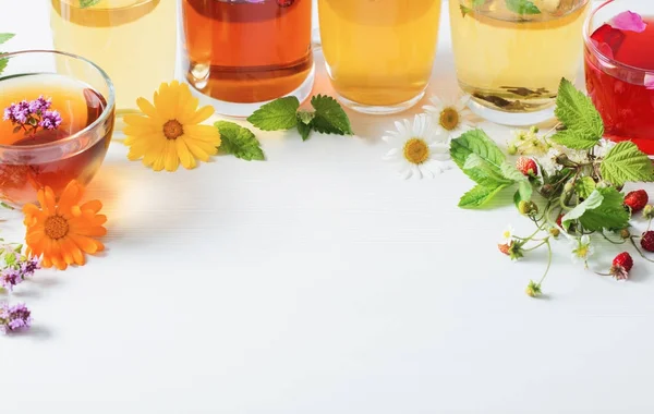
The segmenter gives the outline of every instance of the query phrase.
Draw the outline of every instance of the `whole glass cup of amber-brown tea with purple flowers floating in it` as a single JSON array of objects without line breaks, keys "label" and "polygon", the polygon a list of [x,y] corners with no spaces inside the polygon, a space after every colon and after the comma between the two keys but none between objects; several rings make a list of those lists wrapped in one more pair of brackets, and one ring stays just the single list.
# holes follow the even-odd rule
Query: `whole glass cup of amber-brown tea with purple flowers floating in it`
[{"label": "whole glass cup of amber-brown tea with purple flowers floating in it", "polygon": [[[64,52],[0,56],[0,200],[20,207],[49,186],[86,185],[111,142],[113,85],[95,63]],[[74,74],[74,75],[73,75]]]}]

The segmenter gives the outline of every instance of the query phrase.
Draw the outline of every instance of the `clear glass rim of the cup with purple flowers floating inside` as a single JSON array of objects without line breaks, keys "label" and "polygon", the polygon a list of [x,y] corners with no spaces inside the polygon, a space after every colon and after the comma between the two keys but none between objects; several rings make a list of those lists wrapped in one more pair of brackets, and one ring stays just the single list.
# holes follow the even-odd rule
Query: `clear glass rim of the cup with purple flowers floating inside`
[{"label": "clear glass rim of the cup with purple flowers floating inside", "polygon": [[[90,131],[95,130],[96,127],[98,127],[98,125],[101,125],[102,123],[105,123],[105,121],[107,121],[107,119],[113,112],[113,109],[116,107],[116,90],[113,88],[113,82],[111,82],[111,78],[109,77],[107,72],[105,72],[105,70],[102,70],[100,66],[98,66],[90,60],[83,58],[78,54],[62,52],[59,50],[35,49],[35,50],[20,50],[20,51],[15,51],[15,52],[3,53],[2,59],[11,59],[11,58],[15,58],[15,57],[35,56],[35,54],[62,56],[65,58],[82,61],[82,62],[88,64],[89,66],[92,66],[93,69],[95,69],[100,74],[100,76],[107,84],[107,88],[109,89],[109,96],[106,97],[107,106],[105,107],[105,109],[102,110],[102,113],[100,113],[98,119],[96,119],[94,122],[92,122],[85,129],[77,131],[76,133],[74,133],[70,136],[66,136],[63,139],[55,141],[52,143],[35,144],[35,145],[21,145],[21,146],[0,144],[0,149],[3,151],[23,153],[23,151],[29,151],[29,150],[34,150],[34,149],[56,148],[56,147],[65,145],[70,142],[80,139],[81,137],[88,135],[88,133]],[[10,64],[11,64],[11,60],[10,60]],[[0,82],[2,82],[3,80],[4,80],[4,76],[0,76]],[[94,142],[90,143],[90,145],[94,145],[99,138],[101,138],[101,137],[97,137],[96,139],[94,139]]]}]

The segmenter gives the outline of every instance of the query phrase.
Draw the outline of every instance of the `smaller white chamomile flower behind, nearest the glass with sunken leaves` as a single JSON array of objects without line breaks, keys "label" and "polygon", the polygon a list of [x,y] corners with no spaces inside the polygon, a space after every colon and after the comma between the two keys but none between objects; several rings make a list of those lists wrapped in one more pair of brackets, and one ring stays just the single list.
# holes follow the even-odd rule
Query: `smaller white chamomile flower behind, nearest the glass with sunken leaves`
[{"label": "smaller white chamomile flower behind, nearest the glass with sunken leaves", "polygon": [[440,99],[433,96],[429,98],[433,105],[425,105],[423,109],[434,120],[437,132],[447,136],[448,139],[453,139],[474,127],[472,111],[468,109],[469,100],[470,95],[452,99]]}]

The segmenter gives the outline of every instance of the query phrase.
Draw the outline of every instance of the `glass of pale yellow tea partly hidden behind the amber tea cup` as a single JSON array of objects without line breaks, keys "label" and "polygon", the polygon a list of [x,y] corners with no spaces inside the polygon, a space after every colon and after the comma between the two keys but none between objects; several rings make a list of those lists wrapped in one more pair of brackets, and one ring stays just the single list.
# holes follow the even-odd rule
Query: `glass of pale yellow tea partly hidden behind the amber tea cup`
[{"label": "glass of pale yellow tea partly hidden behind the amber tea cup", "polygon": [[57,50],[97,63],[116,85],[120,112],[174,76],[175,0],[51,0]]}]

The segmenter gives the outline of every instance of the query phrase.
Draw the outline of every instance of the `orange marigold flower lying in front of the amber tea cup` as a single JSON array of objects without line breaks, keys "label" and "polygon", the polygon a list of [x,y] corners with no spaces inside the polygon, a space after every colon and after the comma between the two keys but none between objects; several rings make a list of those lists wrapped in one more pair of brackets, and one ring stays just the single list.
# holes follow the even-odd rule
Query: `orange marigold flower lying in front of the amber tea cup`
[{"label": "orange marigold flower lying in front of the amber tea cup", "polygon": [[23,207],[25,214],[27,254],[40,257],[43,267],[64,270],[68,265],[84,265],[84,254],[95,254],[105,248],[93,238],[107,234],[102,224],[105,215],[99,200],[80,205],[83,187],[71,181],[59,199],[46,186],[38,192],[40,208],[34,204]]}]

